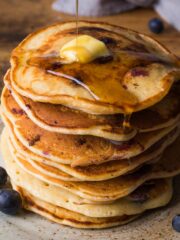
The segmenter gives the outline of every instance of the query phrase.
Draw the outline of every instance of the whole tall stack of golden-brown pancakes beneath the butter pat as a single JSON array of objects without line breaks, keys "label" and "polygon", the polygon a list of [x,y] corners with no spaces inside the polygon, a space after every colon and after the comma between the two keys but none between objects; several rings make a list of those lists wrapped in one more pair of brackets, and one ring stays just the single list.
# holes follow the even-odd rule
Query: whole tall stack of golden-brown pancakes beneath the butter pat
[{"label": "whole tall stack of golden-brown pancakes beneath the butter pat", "polygon": [[[5,76],[1,151],[24,208],[77,228],[127,223],[166,205],[180,173],[178,60],[142,34],[79,22],[112,56],[63,64],[76,34],[28,36]],[[131,114],[131,116],[130,116]]]}]

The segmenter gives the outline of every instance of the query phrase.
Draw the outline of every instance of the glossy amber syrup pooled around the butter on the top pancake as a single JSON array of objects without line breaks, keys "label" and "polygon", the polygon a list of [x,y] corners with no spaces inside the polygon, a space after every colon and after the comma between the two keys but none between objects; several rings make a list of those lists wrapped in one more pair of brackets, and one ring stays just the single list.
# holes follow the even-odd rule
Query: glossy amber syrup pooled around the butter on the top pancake
[{"label": "glossy amber syrup pooled around the butter on the top pancake", "polygon": [[[106,32],[107,37],[104,36]],[[103,38],[101,33],[103,33]],[[72,36],[72,39],[75,37],[73,31],[68,34]],[[109,36],[109,32],[104,29],[80,27],[79,35],[84,34],[103,41],[111,52],[111,56],[101,57],[87,64],[78,62],[65,64],[56,52],[54,58],[40,55],[31,58],[29,64],[72,81],[74,87],[83,87],[95,101],[123,106],[123,111],[127,114],[133,112],[131,106],[138,104],[138,98],[128,91],[124,77],[127,72],[132,73],[134,77],[147,76],[148,71],[145,67],[151,63],[162,62],[162,59],[152,54],[144,45],[121,35],[118,39],[117,36],[113,36],[113,33]],[[136,69],[137,67],[140,69]]]}]

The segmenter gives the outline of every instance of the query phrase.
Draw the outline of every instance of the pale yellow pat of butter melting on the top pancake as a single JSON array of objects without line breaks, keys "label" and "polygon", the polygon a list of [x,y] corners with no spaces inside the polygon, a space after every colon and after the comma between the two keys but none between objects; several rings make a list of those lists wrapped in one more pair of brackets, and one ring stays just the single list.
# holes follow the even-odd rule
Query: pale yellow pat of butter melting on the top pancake
[{"label": "pale yellow pat of butter melting on the top pancake", "polygon": [[81,35],[66,43],[60,50],[60,57],[67,63],[89,63],[99,57],[109,56],[106,45],[91,36]]}]

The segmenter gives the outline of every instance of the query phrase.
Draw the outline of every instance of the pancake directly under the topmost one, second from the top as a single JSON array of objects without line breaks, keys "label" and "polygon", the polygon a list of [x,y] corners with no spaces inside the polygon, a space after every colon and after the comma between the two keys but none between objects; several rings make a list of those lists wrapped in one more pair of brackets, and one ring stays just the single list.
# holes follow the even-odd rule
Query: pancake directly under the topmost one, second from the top
[{"label": "pancake directly under the topmost one, second from the top", "polygon": [[[7,83],[6,83],[7,85]],[[124,130],[123,117],[97,116],[73,110],[63,105],[33,102],[30,98],[19,95],[12,90],[3,92],[9,101],[15,101],[26,112],[29,118],[39,127],[63,134],[93,135],[116,141],[127,141],[133,138],[137,130],[129,128]],[[14,100],[14,99],[15,100]]]}]

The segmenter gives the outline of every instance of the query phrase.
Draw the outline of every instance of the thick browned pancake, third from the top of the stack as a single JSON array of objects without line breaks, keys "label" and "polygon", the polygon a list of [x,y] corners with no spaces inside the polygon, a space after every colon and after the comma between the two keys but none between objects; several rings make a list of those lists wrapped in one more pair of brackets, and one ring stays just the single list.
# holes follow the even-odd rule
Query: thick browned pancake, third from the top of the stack
[{"label": "thick browned pancake, third from the top of the stack", "polygon": [[131,141],[116,145],[94,136],[64,135],[46,131],[35,125],[18,105],[12,104],[3,96],[1,106],[5,125],[10,131],[14,131],[26,148],[52,161],[72,166],[100,164],[137,156],[176,128],[175,125],[139,133]]}]

